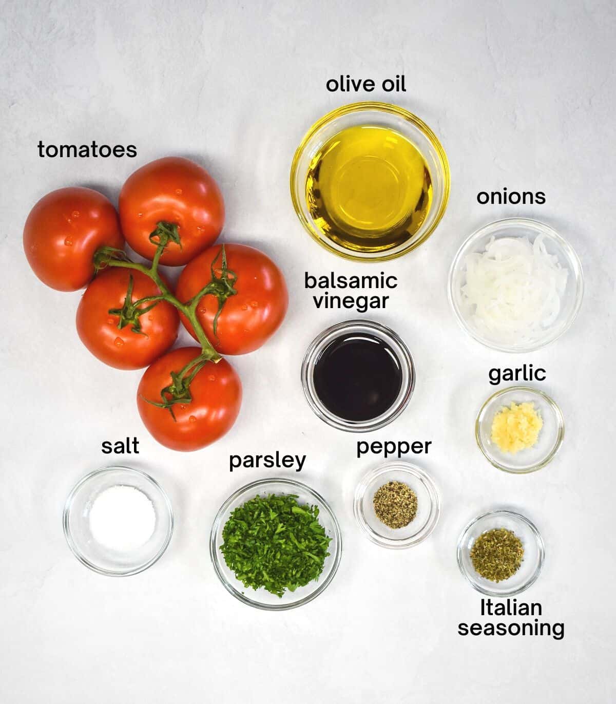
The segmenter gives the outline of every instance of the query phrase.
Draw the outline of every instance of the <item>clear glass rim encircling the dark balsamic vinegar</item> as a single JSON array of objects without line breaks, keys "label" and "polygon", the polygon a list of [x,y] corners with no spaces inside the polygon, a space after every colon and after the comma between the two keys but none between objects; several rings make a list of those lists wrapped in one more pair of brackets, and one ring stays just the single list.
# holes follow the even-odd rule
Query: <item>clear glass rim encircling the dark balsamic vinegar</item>
[{"label": "clear glass rim encircling the dark balsamic vinegar", "polygon": [[[324,341],[330,334],[334,332],[344,331],[345,328],[351,327],[365,327],[368,332],[370,330],[377,330],[384,337],[394,341],[394,345],[398,346],[402,351],[402,359],[399,359],[401,364],[406,366],[406,371],[408,374],[408,384],[404,390],[404,395],[400,397],[397,403],[394,403],[391,408],[389,408],[386,413],[372,418],[369,420],[361,421],[363,425],[353,424],[352,421],[346,421],[333,413],[330,413],[327,408],[321,408],[319,405],[319,400],[316,395],[313,395],[310,391],[309,377],[314,371],[315,363],[315,351],[318,346]],[[397,357],[397,355],[396,355]],[[343,320],[342,322],[337,322],[335,325],[330,325],[322,330],[315,339],[308,345],[306,353],[303,356],[301,363],[301,387],[303,389],[303,394],[308,401],[308,406],[312,408],[313,413],[319,417],[322,421],[326,422],[327,425],[331,425],[339,430],[345,430],[352,433],[364,433],[372,432],[373,430],[378,430],[389,423],[396,420],[396,418],[403,413],[403,410],[408,406],[408,402],[413,396],[413,391],[415,391],[415,362],[413,361],[413,356],[411,355],[406,343],[403,341],[399,335],[387,327],[382,325],[380,322],[375,320],[366,320],[365,318],[353,318],[353,320]]]}]

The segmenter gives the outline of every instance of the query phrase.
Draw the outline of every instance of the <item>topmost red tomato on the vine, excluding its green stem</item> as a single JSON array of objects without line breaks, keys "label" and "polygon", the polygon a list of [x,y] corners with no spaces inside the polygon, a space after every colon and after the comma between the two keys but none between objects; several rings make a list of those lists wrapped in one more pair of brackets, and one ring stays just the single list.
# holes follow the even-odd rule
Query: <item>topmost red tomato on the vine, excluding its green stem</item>
[{"label": "topmost red tomato on the vine, excluding its green stem", "polygon": [[215,180],[196,163],[175,156],[152,161],[128,177],[120,191],[120,222],[128,244],[152,259],[150,234],[158,222],[177,225],[182,246],[170,242],[161,264],[180,266],[213,244],[225,222]]}]

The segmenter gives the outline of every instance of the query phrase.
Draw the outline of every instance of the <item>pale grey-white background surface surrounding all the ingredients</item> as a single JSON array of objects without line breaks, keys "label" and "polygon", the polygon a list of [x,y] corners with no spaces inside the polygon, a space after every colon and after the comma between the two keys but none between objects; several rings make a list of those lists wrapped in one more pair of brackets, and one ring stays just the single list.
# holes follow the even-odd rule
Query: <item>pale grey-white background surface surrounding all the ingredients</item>
[{"label": "pale grey-white background surface surrounding all the ingredients", "polygon": [[[5,2],[0,210],[0,701],[88,704],[609,703],[616,698],[616,479],[612,464],[615,221],[615,4],[429,0]],[[406,94],[330,94],[350,73],[406,75]],[[303,232],[289,167],[308,127],[357,99],[389,99],[424,118],[451,163],[441,225],[418,251],[384,265],[399,277],[375,319],[406,340],[417,365],[403,415],[370,439],[432,440],[416,461],[444,511],[408,551],[369,543],[353,519],[357,437],[327,427],[299,383],[306,346],[352,317],[315,310],[303,272],[365,273]],[[39,158],[37,142],[135,144],[135,159]],[[225,195],[223,241],[260,247],[289,284],[287,320],[270,343],[235,358],[244,384],[237,424],[215,446],[173,453],[135,407],[139,372],[101,365],[80,344],[80,294],[30,272],[21,233],[51,189],[87,185],[113,201],[140,165],[189,156]],[[480,206],[477,192],[542,190],[542,206]],[[543,351],[508,356],[458,329],[446,275],[470,232],[507,215],[559,230],[579,253],[586,295],[574,327]],[[186,339],[186,336],[184,336]],[[546,367],[541,388],[565,414],[558,458],[529,476],[498,472],[479,453],[474,417],[494,366]],[[177,529],[151,570],[90,572],[61,529],[65,496],[108,463],[101,441],[138,436],[118,458],[159,479]],[[298,610],[235,601],[208,555],[222,501],[262,470],[228,471],[230,453],[306,454],[299,479],[330,501],[344,551],[337,577]],[[287,474],[289,470],[284,470]],[[274,472],[275,473],[275,472]],[[546,541],[540,601],[565,638],[458,636],[482,621],[480,597],[455,562],[477,513],[522,511]]]}]

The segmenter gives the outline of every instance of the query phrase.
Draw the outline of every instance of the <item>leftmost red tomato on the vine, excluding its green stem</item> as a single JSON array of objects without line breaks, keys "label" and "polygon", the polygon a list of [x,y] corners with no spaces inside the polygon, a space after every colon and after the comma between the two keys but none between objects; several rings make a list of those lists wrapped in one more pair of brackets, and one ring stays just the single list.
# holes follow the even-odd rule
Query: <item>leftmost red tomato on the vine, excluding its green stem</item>
[{"label": "leftmost red tomato on the vine, excluding its green stem", "polygon": [[103,194],[89,188],[51,191],[30,210],[23,249],[32,271],[58,291],[82,289],[94,276],[99,247],[122,249],[118,213]]}]

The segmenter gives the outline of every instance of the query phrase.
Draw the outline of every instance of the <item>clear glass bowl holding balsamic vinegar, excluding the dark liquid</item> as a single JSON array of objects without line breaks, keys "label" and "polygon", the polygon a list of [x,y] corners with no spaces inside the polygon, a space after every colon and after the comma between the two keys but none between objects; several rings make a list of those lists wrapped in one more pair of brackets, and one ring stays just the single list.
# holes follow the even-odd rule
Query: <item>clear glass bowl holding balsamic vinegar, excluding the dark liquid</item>
[{"label": "clear glass bowl holding balsamic vinegar, excluding the dark liquid", "polygon": [[[398,398],[381,415],[367,420],[348,420],[334,415],[319,398],[315,389],[314,371],[321,354],[335,339],[348,334],[367,334],[384,341],[398,360],[402,372],[402,383]],[[389,327],[372,320],[345,320],[323,330],[308,346],[301,364],[301,386],[308,405],[328,425],[339,430],[361,433],[377,430],[391,423],[406,408],[415,389],[415,365],[408,347]]]}]

